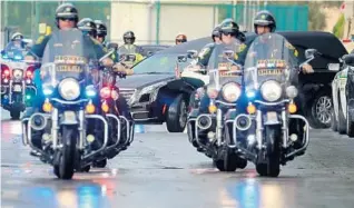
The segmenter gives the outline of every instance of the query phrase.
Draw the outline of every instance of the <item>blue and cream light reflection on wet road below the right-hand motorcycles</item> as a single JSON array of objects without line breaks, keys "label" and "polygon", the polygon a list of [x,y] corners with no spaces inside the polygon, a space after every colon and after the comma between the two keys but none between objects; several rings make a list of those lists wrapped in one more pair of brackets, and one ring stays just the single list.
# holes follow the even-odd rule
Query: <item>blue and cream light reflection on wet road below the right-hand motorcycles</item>
[{"label": "blue and cream light reflection on wet road below the right-hand motorcycles", "polygon": [[294,205],[296,181],[281,178],[245,178],[219,191],[222,208],[284,208]]}]

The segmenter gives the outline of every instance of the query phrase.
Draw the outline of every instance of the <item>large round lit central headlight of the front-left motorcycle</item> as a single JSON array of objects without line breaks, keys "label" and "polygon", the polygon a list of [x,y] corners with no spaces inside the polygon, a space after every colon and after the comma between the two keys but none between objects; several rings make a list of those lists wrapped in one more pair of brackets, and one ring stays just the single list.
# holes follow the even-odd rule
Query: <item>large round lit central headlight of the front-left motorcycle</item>
[{"label": "large round lit central headlight of the front-left motorcycle", "polygon": [[59,93],[66,100],[75,100],[80,96],[80,85],[76,79],[67,78],[59,83]]}]

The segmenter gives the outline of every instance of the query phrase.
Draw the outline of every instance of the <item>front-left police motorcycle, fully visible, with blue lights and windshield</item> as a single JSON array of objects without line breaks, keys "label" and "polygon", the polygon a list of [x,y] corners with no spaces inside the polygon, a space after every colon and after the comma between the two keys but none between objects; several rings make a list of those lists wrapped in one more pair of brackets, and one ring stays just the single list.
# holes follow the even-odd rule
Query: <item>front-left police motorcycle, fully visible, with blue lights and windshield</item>
[{"label": "front-left police motorcycle, fully visible, with blue lights and windshield", "polygon": [[[43,112],[22,120],[22,142],[39,151],[41,161],[53,166],[60,179],[71,179],[75,171],[88,171],[108,146],[109,115],[99,112],[91,73],[97,68],[94,46],[81,31],[59,30],[48,41],[40,68]],[[41,141],[41,148],[35,140]],[[96,140],[102,143],[94,146]]]}]

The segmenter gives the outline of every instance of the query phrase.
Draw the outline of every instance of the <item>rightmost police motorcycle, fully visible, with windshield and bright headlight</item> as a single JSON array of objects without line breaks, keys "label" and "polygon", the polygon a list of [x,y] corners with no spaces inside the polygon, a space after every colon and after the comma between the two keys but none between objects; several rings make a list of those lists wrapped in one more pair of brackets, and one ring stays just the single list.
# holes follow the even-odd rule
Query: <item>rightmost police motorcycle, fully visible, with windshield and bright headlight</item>
[{"label": "rightmost police motorcycle, fully visible, with windshield and bright headlight", "polygon": [[[260,176],[277,177],[279,166],[303,155],[308,146],[308,122],[296,115],[294,102],[301,66],[287,44],[276,33],[254,40],[244,66],[247,113],[230,117],[225,123],[230,129],[228,147],[254,162]],[[307,49],[304,63],[315,53]]]}]

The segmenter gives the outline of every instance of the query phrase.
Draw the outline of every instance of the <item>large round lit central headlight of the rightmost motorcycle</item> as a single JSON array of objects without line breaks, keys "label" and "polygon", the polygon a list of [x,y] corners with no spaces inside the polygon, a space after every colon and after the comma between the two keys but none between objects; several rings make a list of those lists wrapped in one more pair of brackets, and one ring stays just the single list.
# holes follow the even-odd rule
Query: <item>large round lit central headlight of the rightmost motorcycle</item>
[{"label": "large round lit central headlight of the rightmost motorcycle", "polygon": [[260,87],[260,95],[266,101],[274,102],[282,97],[282,86],[274,80],[266,81]]}]

